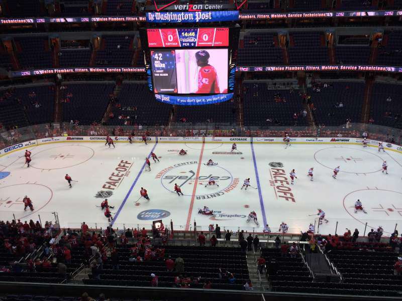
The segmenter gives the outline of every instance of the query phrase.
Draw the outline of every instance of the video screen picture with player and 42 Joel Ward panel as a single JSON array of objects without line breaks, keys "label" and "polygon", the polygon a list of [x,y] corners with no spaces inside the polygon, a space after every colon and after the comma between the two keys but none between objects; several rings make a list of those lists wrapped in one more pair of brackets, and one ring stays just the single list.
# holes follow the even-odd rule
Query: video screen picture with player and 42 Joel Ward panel
[{"label": "video screen picture with player and 42 Joel Ward panel", "polygon": [[151,50],[154,93],[228,93],[228,49]]}]

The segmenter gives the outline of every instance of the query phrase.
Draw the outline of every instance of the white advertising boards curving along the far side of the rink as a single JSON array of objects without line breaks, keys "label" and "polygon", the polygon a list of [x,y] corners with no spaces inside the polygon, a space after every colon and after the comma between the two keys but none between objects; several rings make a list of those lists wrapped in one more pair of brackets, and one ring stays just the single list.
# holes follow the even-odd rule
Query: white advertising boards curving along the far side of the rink
[{"label": "white advertising boards curving along the far side of the rink", "polygon": [[[128,143],[128,136],[114,136],[112,137],[116,143]],[[25,142],[16,143],[6,148],[0,149],[0,157],[7,156],[8,154],[17,152],[18,150],[25,148],[32,148],[38,145],[60,143],[60,142],[102,142],[106,141],[105,136],[59,136],[51,138],[42,138],[36,140],[30,140]],[[343,138],[343,137],[296,137],[290,138],[291,144],[362,144],[361,138]],[[143,143],[142,137],[132,137],[132,142]],[[284,144],[284,138],[281,137],[147,137],[147,142],[150,143],[275,143]],[[367,140],[367,144],[370,147],[378,147],[377,140]],[[383,142],[386,150],[391,150],[402,154],[402,146]]]}]

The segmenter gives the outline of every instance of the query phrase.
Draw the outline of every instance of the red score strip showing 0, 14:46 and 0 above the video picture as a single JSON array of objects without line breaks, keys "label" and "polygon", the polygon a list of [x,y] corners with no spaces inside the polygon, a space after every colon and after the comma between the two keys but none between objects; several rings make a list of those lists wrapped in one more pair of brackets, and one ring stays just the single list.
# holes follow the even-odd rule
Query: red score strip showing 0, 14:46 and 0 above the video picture
[{"label": "red score strip showing 0, 14:46 and 0 above the video picture", "polygon": [[147,29],[148,47],[227,47],[229,28]]}]

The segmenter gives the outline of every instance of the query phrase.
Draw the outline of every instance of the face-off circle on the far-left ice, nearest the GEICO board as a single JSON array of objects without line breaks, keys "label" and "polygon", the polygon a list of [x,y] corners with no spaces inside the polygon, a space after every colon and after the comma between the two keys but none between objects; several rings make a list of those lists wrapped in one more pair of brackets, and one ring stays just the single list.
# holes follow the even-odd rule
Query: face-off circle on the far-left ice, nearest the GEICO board
[{"label": "face-off circle on the far-left ice, nearest the GEICO board", "polygon": [[90,160],[94,150],[85,145],[61,145],[32,154],[30,167],[41,170],[70,168]]}]

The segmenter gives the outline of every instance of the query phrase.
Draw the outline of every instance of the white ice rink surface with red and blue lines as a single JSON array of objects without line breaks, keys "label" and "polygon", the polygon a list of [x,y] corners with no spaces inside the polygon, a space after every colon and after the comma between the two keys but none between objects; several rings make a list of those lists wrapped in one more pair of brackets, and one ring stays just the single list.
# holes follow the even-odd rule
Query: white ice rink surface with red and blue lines
[{"label": "white ice rink surface with red and blue lines", "polygon": [[[178,150],[187,150],[179,156]],[[97,207],[105,199],[114,206],[114,227],[146,227],[161,218],[173,221],[176,230],[197,229],[210,224],[221,229],[261,231],[268,223],[273,232],[283,221],[289,233],[306,230],[317,222],[317,209],[326,212],[328,223],[320,226],[323,234],[343,234],[355,228],[363,235],[382,226],[384,234],[402,223],[402,155],[377,147],[348,144],[238,143],[238,153],[228,154],[230,143],[133,143],[117,142],[109,148],[102,142],[51,143],[29,148],[31,167],[24,166],[25,150],[0,158],[0,220],[13,214],[22,221],[41,217],[42,223],[54,220],[57,212],[62,227],[78,228],[85,221],[90,227],[106,227],[107,218]],[[159,163],[145,158],[153,151]],[[209,159],[218,163],[207,166]],[[388,175],[381,172],[388,164]],[[337,179],[333,169],[340,166]],[[307,176],[314,167],[314,181]],[[289,172],[297,179],[290,184]],[[72,188],[64,180],[69,174]],[[205,187],[213,178],[218,186]],[[247,190],[241,190],[250,178]],[[174,184],[184,196],[173,192]],[[150,200],[140,196],[148,191]],[[24,211],[22,199],[28,195],[35,210]],[[354,213],[360,199],[367,214]],[[215,217],[199,215],[208,206]],[[257,213],[259,227],[247,222],[248,213]],[[318,225],[317,225],[318,226]],[[316,229],[317,230],[317,229]]]}]

